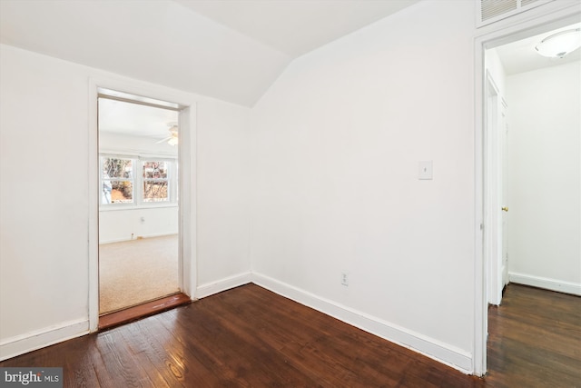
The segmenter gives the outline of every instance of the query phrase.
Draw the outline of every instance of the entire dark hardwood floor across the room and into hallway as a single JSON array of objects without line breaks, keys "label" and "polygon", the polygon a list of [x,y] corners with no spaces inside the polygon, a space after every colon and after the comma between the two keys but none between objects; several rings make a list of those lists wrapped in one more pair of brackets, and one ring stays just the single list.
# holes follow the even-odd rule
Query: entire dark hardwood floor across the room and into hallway
[{"label": "entire dark hardwood floor across the room and into hallway", "polygon": [[580,299],[510,285],[490,309],[485,379],[254,284],[0,366],[62,366],[67,387],[581,386]]}]

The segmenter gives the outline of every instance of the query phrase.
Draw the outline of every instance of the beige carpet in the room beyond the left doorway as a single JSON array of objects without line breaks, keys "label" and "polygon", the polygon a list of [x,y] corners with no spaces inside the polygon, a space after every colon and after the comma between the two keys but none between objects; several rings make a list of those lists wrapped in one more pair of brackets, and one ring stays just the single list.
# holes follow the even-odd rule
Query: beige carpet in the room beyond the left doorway
[{"label": "beige carpet in the room beyond the left doorway", "polygon": [[177,234],[99,245],[99,313],[179,291]]}]

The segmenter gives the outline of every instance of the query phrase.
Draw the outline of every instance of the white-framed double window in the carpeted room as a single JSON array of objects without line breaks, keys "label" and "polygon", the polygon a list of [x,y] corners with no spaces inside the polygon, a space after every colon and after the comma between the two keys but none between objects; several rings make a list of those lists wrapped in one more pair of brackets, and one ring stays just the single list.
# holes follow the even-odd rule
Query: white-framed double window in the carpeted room
[{"label": "white-framed double window in the carpeted room", "polygon": [[177,203],[175,159],[101,154],[100,162],[101,205]]}]

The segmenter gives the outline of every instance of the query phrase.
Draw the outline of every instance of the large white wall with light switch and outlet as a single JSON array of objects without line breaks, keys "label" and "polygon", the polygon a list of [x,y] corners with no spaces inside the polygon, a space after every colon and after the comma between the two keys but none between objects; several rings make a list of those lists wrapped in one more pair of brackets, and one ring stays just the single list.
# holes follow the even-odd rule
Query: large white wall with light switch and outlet
[{"label": "large white wall with light switch and outlet", "polygon": [[474,8],[421,2],[304,55],[251,112],[258,283],[466,371]]}]

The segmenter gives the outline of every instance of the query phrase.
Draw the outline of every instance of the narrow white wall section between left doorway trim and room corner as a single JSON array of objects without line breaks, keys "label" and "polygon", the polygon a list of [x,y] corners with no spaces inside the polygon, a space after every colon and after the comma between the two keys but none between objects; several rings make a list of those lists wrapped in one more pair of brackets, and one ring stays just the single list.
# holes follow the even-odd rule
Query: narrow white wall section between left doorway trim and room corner
[{"label": "narrow white wall section between left doorway trim and room corner", "polygon": [[[249,109],[198,104],[199,296],[250,282]],[[242,276],[239,276],[243,274]],[[228,282],[222,282],[228,278]],[[218,288],[212,284],[221,280]]]}]

